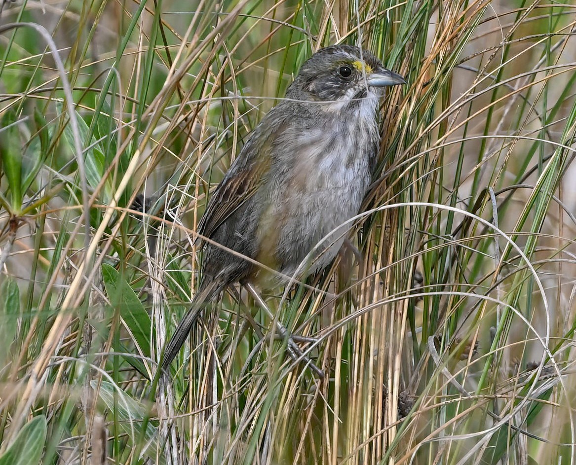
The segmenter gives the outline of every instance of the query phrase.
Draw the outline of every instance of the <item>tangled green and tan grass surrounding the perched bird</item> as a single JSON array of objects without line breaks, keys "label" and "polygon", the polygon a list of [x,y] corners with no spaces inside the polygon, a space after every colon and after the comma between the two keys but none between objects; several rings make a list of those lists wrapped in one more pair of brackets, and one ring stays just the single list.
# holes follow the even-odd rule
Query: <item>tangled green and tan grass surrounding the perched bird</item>
[{"label": "tangled green and tan grass surrounding the perched bird", "polygon": [[[0,465],[576,463],[576,2],[0,9]],[[334,43],[408,85],[363,260],[267,296],[325,379],[236,289],[151,382],[207,197]]]}]

